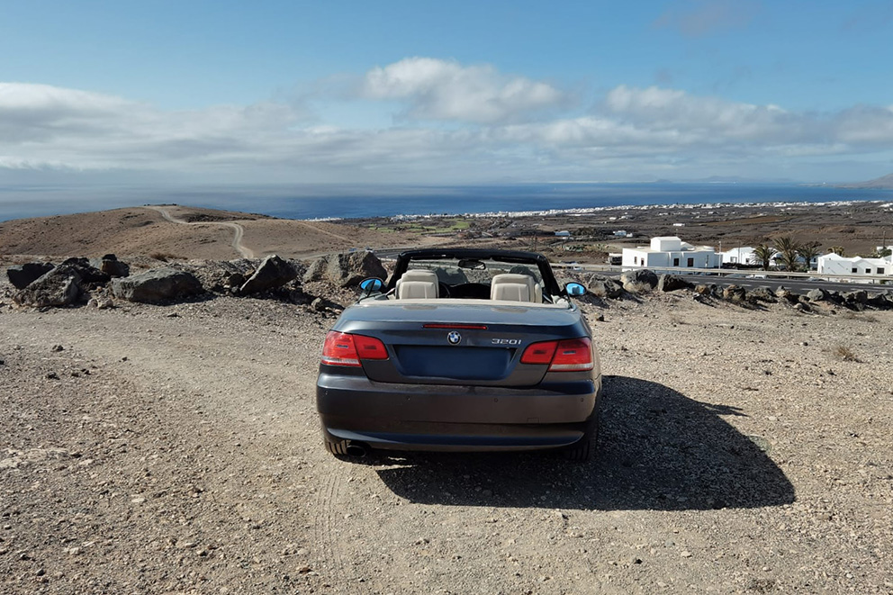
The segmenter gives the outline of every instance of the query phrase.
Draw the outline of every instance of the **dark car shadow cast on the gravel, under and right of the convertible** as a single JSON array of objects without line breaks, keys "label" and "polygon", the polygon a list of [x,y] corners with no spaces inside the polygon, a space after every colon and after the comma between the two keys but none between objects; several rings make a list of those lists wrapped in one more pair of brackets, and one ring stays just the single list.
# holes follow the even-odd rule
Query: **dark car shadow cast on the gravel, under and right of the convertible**
[{"label": "dark car shadow cast on the gravel, under and right of the convertible", "polygon": [[724,509],[778,506],[794,487],[771,443],[663,384],[606,376],[598,450],[588,463],[559,455],[410,453],[374,457],[382,481],[412,502],[559,509]]}]

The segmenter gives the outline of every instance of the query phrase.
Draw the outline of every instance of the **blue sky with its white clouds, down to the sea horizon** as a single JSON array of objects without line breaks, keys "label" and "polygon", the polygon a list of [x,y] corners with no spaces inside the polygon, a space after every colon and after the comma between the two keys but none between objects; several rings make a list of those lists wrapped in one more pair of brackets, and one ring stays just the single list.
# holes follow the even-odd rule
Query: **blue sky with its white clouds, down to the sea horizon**
[{"label": "blue sky with its white clouds, down to the sea horizon", "polygon": [[0,2],[0,183],[893,172],[890,2]]}]

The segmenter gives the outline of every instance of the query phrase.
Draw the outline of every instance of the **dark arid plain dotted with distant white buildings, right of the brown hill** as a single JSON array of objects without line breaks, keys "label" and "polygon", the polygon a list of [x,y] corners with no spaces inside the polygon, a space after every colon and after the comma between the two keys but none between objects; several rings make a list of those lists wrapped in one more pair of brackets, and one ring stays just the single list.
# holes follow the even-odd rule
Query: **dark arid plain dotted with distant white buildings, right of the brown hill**
[{"label": "dark arid plain dotted with distant white buildings, right of the brown hill", "polygon": [[[870,256],[893,242],[888,203],[720,204],[615,207],[597,212],[536,216],[448,216],[350,221],[357,227],[437,236],[446,245],[483,245],[543,252],[553,261],[604,264],[608,254],[647,245],[657,236],[679,236],[694,245],[729,250],[770,244],[781,236],[816,242],[819,252],[843,248],[845,256]],[[555,237],[569,231],[570,238]],[[616,237],[615,231],[630,236]]]}]

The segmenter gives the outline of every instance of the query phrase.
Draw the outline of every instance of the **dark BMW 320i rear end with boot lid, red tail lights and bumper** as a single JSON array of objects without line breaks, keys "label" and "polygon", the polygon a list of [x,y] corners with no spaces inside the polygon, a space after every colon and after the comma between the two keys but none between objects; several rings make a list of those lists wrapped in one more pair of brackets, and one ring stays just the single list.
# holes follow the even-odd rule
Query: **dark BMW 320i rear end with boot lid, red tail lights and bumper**
[{"label": "dark BMW 320i rear end with boot lid, red tail lights and bumper", "polygon": [[317,382],[335,454],[509,451],[591,437],[601,390],[575,308],[361,303],[329,331]]}]

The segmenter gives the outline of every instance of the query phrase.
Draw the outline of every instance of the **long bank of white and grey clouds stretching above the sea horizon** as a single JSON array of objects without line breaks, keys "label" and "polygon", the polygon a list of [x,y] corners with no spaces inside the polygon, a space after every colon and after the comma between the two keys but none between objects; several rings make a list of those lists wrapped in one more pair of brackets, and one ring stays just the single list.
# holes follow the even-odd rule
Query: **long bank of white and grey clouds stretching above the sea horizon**
[{"label": "long bank of white and grey clouds stretching above the sea horizon", "polygon": [[[462,184],[555,176],[647,179],[673,172],[707,176],[717,166],[745,167],[743,175],[759,176],[809,158],[879,158],[893,146],[890,106],[796,113],[678,89],[618,86],[592,113],[565,110],[559,117],[521,119],[519,113],[554,105],[563,95],[552,87],[537,95],[533,90],[541,84],[528,79],[472,77],[478,67],[428,60],[420,68],[416,61],[399,62],[407,68],[390,74],[372,71],[381,75],[373,77],[375,95],[404,97],[411,110],[442,118],[450,113],[461,121],[343,127],[272,101],[165,111],[112,95],[0,84],[0,170],[171,172],[246,183]],[[483,71],[492,75],[489,68]],[[444,72],[461,82],[456,89],[489,97],[490,103],[451,99],[456,89],[448,89]],[[370,103],[355,101],[366,109]]]}]

